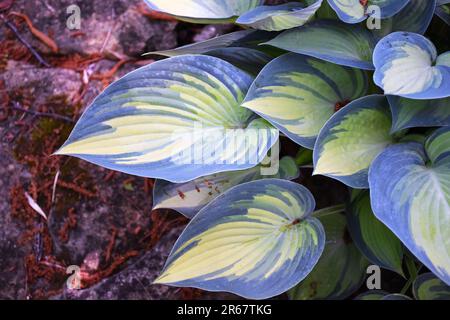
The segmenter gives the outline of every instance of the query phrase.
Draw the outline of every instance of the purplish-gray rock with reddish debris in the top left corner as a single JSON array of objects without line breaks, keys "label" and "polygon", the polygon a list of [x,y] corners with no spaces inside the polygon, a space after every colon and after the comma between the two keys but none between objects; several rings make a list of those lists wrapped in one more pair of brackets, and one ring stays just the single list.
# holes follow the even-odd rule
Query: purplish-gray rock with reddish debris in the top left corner
[{"label": "purplish-gray rock with reddish debris in the top left corner", "polygon": [[[78,5],[80,29],[70,30],[67,8]],[[93,54],[104,49],[115,56],[140,56],[146,51],[176,46],[176,22],[152,21],[138,10],[141,0],[16,0],[12,10],[25,13],[34,26],[51,36],[60,54]],[[41,52],[50,52],[28,31],[23,36]]]}]

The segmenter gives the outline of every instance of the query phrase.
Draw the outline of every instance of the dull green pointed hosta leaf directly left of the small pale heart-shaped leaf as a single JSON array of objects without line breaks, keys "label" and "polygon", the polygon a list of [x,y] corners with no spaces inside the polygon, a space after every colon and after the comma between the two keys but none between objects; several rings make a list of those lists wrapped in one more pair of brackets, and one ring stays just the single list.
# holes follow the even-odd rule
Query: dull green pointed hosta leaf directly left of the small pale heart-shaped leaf
[{"label": "dull green pointed hosta leaf directly left of the small pale heart-shaped leaf", "polygon": [[284,31],[265,44],[332,63],[373,70],[375,36],[369,30],[335,20],[317,20]]}]

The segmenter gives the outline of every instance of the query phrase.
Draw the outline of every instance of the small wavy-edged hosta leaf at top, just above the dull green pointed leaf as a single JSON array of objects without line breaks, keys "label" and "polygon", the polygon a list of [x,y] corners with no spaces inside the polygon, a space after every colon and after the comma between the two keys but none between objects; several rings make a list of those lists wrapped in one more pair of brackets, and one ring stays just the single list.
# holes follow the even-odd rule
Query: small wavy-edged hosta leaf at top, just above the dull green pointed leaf
[{"label": "small wavy-edged hosta leaf at top, just above the dull green pointed leaf", "polygon": [[308,22],[320,8],[322,1],[317,0],[307,7],[299,2],[256,7],[240,16],[236,23],[266,31],[292,29]]}]

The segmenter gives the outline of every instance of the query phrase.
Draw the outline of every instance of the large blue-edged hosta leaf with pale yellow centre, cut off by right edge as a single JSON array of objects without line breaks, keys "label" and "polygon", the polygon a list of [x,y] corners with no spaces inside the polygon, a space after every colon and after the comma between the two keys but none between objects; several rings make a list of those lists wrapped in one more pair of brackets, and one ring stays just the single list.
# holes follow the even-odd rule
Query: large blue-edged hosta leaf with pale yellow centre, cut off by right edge
[{"label": "large blue-edged hosta leaf with pale yellow centre, cut off by right edge", "polygon": [[450,283],[450,127],[426,142],[387,148],[369,173],[375,215]]}]

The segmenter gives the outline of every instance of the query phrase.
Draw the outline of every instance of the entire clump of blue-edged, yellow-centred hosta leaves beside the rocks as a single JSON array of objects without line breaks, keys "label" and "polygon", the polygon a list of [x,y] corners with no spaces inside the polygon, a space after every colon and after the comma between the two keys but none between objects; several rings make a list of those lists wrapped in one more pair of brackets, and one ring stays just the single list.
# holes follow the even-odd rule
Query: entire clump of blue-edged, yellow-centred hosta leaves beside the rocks
[{"label": "entire clump of blue-edged, yellow-centred hosta leaves beside the rocks", "polygon": [[[157,178],[155,208],[192,219],[157,283],[343,299],[369,263],[404,275],[406,259],[411,277],[432,272],[417,299],[448,297],[450,51],[426,33],[435,13],[449,32],[448,1],[145,2],[243,28],[152,53],[168,58],[109,86],[57,152]],[[270,172],[280,136],[299,157]],[[315,174],[349,187],[346,206],[315,211],[292,182],[305,150]]]}]

